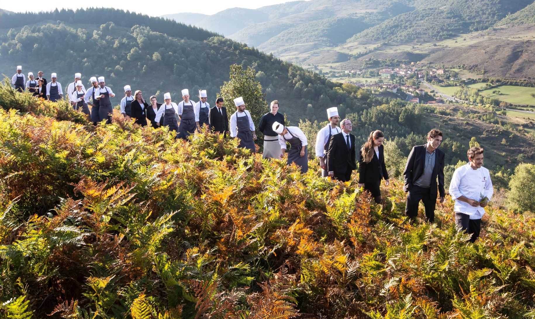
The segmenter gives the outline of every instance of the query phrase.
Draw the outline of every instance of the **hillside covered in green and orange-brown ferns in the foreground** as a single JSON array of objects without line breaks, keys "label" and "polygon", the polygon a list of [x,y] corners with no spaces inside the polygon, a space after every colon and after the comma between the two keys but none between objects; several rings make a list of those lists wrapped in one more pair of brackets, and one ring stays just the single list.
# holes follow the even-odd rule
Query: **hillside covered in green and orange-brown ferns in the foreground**
[{"label": "hillside covered in green and orange-brown ferns in the foreground", "polygon": [[404,223],[401,181],[370,205],[207,131],[0,105],[1,318],[535,317],[531,215],[489,207],[467,244],[449,197]]}]

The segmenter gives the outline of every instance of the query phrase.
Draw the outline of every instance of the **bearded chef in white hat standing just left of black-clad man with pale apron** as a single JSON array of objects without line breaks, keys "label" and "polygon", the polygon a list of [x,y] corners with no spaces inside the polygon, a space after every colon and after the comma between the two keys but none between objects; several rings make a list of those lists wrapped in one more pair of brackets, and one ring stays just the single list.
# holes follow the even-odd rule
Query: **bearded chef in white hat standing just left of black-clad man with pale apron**
[{"label": "bearded chef in white hat standing just left of black-clad man with pale apron", "polygon": [[255,123],[253,123],[249,111],[245,109],[245,102],[243,102],[241,96],[234,99],[234,105],[236,105],[237,110],[231,115],[231,137],[240,139],[238,147],[249,149],[252,153],[255,153]]}]

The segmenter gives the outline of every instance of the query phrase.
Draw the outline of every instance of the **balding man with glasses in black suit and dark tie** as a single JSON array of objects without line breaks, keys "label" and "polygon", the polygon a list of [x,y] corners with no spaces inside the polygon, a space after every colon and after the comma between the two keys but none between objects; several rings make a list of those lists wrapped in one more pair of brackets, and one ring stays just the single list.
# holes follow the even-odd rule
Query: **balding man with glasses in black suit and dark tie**
[{"label": "balding man with glasses in black suit and dark tie", "polygon": [[355,159],[355,135],[350,134],[353,125],[348,119],[340,122],[342,131],[331,136],[327,150],[327,171],[338,181],[347,182],[357,168]]}]

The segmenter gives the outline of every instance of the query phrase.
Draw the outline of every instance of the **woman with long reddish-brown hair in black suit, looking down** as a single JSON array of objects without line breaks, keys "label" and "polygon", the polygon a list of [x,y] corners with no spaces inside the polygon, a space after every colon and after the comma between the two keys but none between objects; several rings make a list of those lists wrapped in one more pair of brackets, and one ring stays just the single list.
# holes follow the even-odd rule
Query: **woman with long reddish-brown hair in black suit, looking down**
[{"label": "woman with long reddish-brown hair in black suit, looking down", "polygon": [[377,204],[381,202],[381,180],[385,178],[385,185],[389,184],[384,140],[385,135],[380,130],[370,133],[368,141],[361,147],[361,157],[358,160],[358,187],[364,186],[364,190],[371,193]]}]

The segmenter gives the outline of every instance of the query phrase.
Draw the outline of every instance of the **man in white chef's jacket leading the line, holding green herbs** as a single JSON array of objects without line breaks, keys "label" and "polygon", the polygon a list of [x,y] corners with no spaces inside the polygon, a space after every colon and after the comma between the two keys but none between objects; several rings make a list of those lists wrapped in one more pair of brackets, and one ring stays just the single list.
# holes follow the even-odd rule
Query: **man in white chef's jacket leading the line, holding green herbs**
[{"label": "man in white chef's jacket leading the line, holding green herbs", "polygon": [[468,164],[453,173],[449,184],[449,194],[455,199],[455,224],[471,234],[470,242],[475,242],[481,231],[481,217],[485,206],[492,198],[491,175],[483,167],[483,149],[472,147],[467,152]]}]

